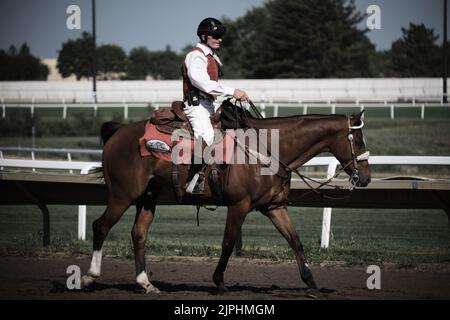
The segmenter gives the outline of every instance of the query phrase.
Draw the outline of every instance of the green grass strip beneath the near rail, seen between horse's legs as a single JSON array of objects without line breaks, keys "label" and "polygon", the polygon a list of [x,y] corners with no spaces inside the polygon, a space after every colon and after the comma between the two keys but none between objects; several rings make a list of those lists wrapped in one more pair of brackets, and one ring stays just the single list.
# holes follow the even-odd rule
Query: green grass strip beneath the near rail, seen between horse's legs
[{"label": "green grass strip beneath the near rail, seen between horse's legs", "polygon": [[[41,214],[33,206],[1,206],[0,253],[45,255],[52,252],[89,254],[91,223],[103,207],[88,207],[87,241],[77,240],[77,207],[50,206],[51,246],[41,244]],[[291,217],[311,262],[344,261],[347,264],[393,262],[402,266],[450,262],[450,230],[440,210],[334,209],[331,245],[320,248],[321,209],[291,208]],[[147,241],[154,255],[220,255],[226,211],[202,210],[196,226],[194,207],[161,206]],[[134,210],[128,210],[105,242],[107,255],[133,257],[130,230]],[[243,226],[243,255],[272,260],[293,259],[285,239],[258,212]]]}]

